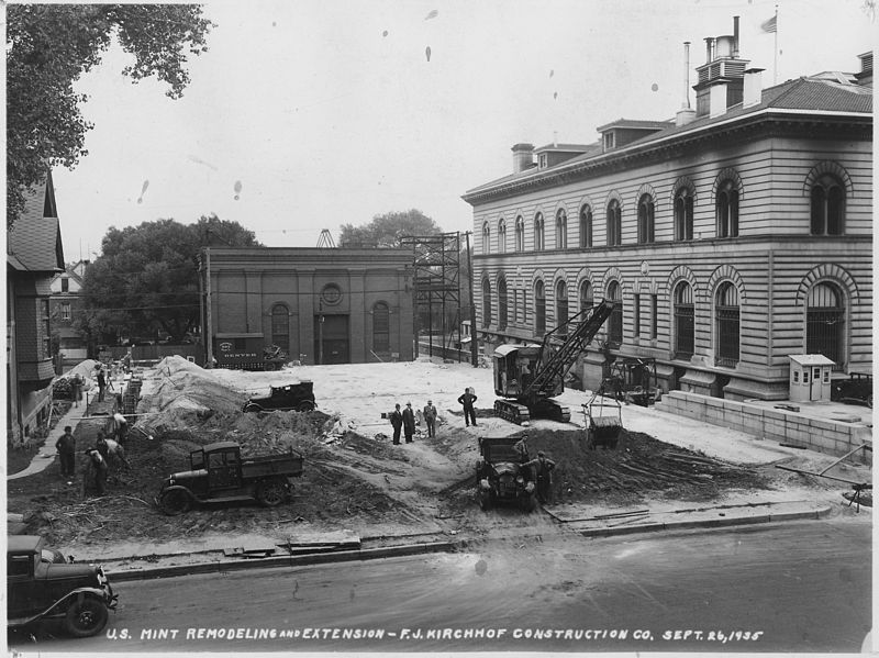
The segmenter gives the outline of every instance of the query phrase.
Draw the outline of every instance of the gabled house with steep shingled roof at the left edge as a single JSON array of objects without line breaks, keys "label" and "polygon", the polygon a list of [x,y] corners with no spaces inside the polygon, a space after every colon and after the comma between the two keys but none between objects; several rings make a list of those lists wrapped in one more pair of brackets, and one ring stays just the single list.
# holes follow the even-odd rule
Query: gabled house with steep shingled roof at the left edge
[{"label": "gabled house with steep shingled roof at the left edge", "polygon": [[51,285],[64,270],[52,172],[31,188],[7,233],[7,440],[22,443],[52,403]]}]

